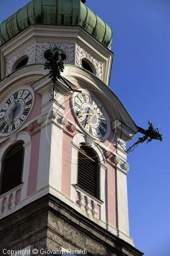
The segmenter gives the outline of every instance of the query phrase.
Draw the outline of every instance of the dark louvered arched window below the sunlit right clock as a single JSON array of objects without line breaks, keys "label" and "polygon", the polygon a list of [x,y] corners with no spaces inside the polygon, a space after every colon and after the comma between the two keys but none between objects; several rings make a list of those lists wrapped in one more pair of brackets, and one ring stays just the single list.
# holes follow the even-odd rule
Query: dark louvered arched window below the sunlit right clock
[{"label": "dark louvered arched window below the sunlit right clock", "polygon": [[99,163],[92,148],[82,145],[78,155],[78,186],[99,198]]}]

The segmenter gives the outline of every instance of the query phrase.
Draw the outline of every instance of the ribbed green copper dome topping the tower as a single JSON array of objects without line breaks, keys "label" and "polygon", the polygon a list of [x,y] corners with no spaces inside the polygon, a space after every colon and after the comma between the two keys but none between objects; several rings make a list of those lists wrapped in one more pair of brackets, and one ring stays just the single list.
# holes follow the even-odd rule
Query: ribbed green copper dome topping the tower
[{"label": "ribbed green copper dome topping the tower", "polygon": [[106,47],[111,45],[111,28],[80,0],[32,0],[1,24],[2,44],[33,24],[81,26]]}]

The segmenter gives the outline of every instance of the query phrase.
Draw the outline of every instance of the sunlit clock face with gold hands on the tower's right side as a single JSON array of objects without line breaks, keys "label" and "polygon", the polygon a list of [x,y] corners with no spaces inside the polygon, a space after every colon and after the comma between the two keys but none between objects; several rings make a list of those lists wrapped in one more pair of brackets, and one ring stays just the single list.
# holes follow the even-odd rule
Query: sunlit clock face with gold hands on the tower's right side
[{"label": "sunlit clock face with gold hands on the tower's right side", "polygon": [[73,105],[83,130],[93,138],[105,140],[110,133],[110,123],[103,105],[87,92],[75,93]]}]

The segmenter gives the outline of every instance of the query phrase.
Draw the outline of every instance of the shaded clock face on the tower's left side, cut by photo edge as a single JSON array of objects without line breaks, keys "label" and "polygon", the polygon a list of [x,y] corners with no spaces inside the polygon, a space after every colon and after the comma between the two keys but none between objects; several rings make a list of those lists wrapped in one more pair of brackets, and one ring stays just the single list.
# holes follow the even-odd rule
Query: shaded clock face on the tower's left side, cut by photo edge
[{"label": "shaded clock face on the tower's left side, cut by photo edge", "polygon": [[34,103],[32,88],[22,87],[8,96],[0,107],[0,135],[16,131],[28,117]]}]

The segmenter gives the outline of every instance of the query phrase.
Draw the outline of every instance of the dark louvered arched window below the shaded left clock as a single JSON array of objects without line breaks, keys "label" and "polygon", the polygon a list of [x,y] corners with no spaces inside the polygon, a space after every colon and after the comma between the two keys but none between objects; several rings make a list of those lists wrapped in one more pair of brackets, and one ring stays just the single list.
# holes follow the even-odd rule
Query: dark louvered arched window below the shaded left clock
[{"label": "dark louvered arched window below the shaded left clock", "polygon": [[22,142],[16,143],[6,151],[1,170],[1,194],[22,182],[23,157]]}]

